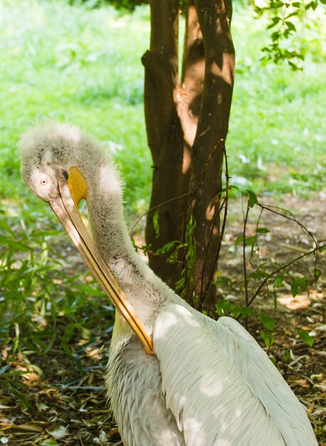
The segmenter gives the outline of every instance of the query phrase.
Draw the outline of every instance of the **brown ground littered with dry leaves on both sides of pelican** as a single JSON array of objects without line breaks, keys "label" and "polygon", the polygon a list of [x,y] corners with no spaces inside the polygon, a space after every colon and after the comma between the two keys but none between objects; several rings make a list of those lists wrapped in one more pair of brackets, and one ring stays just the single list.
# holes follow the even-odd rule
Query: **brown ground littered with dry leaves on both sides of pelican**
[{"label": "brown ground littered with dry leaves on both sides of pelican", "polygon": [[[261,199],[261,202],[268,199]],[[236,203],[236,205],[234,204]],[[326,199],[316,196],[305,201],[297,197],[283,197],[280,207],[291,209],[293,214],[320,244],[326,239]],[[220,269],[231,281],[231,289],[237,290],[241,282],[243,259],[241,247],[234,247],[235,239],[242,234],[241,200],[230,207],[229,223],[226,227],[224,245],[221,251],[223,267]],[[256,212],[256,211],[254,211]],[[257,214],[257,212],[256,212]],[[255,229],[255,218],[248,221],[248,234]],[[311,248],[307,234],[295,223],[284,220],[277,214],[264,212],[260,227],[268,227],[272,232],[264,234],[261,240],[261,258],[287,263]],[[265,238],[263,238],[265,237]],[[248,263],[248,258],[247,258]],[[278,294],[278,310],[265,293],[259,294],[253,302],[256,311],[263,311],[275,320],[275,341],[270,348],[280,373],[307,408],[308,415],[317,434],[320,445],[326,445],[326,373],[325,373],[325,251],[320,253],[318,268],[322,276],[317,284],[310,284],[310,291],[300,292],[293,298],[288,286]],[[291,266],[295,268],[296,263]],[[298,271],[313,267],[312,256],[307,263],[298,266]],[[248,270],[250,265],[248,263]],[[297,274],[297,273],[295,273]],[[238,302],[232,294],[231,301]],[[58,331],[63,327],[58,326]],[[256,318],[248,321],[248,330],[262,344],[261,324]],[[307,346],[298,336],[305,330],[313,336],[312,347]],[[107,361],[111,328],[107,323],[98,327],[96,339],[90,346],[80,349],[78,339],[71,341],[72,351],[78,351],[81,368],[65,355],[60,344],[54,343],[46,356],[23,351],[16,355],[15,370],[28,373],[18,375],[20,391],[30,403],[23,408],[9,388],[0,395],[0,443],[8,445],[122,445],[117,426],[112,421],[105,404],[103,374]],[[6,366],[6,346],[3,347]],[[28,361],[35,370],[28,370]],[[36,365],[36,367],[35,367]],[[43,370],[38,373],[37,365]],[[0,369],[0,373],[1,373]]]}]

